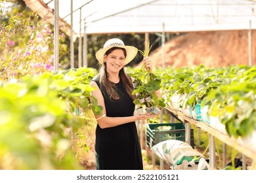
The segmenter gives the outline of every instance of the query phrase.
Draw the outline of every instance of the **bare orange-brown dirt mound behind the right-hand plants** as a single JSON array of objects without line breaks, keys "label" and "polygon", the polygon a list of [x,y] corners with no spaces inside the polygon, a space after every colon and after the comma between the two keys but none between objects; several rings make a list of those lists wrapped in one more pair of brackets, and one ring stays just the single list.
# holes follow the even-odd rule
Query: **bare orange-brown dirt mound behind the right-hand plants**
[{"label": "bare orange-brown dirt mound behind the right-hand plants", "polygon": [[[256,31],[251,31],[252,64],[256,65]],[[203,64],[205,67],[248,65],[248,31],[205,31],[186,33],[165,42],[165,67],[184,67]],[[154,67],[162,66],[162,49],[150,57]]]}]

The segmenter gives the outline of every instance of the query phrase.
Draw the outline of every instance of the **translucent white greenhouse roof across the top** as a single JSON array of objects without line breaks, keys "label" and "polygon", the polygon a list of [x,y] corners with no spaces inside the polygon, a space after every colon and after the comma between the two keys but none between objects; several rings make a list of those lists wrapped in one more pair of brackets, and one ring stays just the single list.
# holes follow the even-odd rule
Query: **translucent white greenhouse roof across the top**
[{"label": "translucent white greenhouse roof across the top", "polygon": [[[43,1],[54,8],[54,1]],[[68,24],[70,5],[59,1]],[[256,0],[74,0],[73,10],[75,33],[83,33],[84,25],[89,34],[249,29],[250,20],[256,29]]]}]

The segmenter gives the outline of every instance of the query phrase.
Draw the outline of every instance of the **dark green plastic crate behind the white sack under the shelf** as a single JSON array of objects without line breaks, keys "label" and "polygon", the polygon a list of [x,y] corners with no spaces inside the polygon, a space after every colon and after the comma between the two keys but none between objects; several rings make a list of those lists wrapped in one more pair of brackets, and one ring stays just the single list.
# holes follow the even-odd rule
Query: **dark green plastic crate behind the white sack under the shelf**
[{"label": "dark green plastic crate behind the white sack under the shelf", "polygon": [[[146,144],[150,148],[167,140],[186,141],[185,126],[182,123],[146,124]],[[194,129],[190,129],[190,145],[194,148]]]}]

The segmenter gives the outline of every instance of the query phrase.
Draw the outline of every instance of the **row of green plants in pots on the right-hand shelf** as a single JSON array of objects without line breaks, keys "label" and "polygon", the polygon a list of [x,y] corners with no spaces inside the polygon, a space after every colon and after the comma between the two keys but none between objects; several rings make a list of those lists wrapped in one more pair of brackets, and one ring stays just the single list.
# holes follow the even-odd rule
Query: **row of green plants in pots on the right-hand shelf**
[{"label": "row of green plants in pots on the right-hand shelf", "polygon": [[161,77],[161,95],[168,107],[195,120],[213,122],[230,137],[255,135],[256,67],[207,69],[200,65],[158,69],[156,74]]}]

